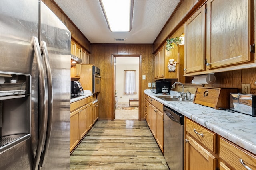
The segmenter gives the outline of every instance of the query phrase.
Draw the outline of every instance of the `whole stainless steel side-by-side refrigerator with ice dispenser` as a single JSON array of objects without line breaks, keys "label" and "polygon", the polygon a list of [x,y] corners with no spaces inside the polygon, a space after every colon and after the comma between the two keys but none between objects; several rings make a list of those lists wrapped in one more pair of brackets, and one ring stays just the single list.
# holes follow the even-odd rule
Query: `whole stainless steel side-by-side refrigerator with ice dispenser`
[{"label": "whole stainless steel side-by-side refrigerator with ice dispenser", "polygon": [[0,170],[69,169],[70,41],[40,0],[0,0]]}]

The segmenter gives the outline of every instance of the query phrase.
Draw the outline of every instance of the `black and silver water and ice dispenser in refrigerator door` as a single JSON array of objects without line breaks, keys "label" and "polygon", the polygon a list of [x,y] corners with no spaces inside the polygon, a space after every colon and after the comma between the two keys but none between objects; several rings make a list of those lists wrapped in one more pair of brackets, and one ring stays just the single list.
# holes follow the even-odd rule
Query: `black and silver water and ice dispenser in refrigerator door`
[{"label": "black and silver water and ice dispenser in refrigerator door", "polygon": [[0,153],[29,139],[31,76],[0,72]]}]

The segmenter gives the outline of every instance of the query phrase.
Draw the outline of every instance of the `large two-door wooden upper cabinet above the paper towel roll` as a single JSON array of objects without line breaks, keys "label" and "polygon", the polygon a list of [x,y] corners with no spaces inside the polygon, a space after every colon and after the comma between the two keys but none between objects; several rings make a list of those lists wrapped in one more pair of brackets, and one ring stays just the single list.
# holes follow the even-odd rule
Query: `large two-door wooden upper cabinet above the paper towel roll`
[{"label": "large two-door wooden upper cabinet above the paper towel roll", "polygon": [[251,3],[208,0],[185,23],[185,75],[234,70],[252,60]]}]

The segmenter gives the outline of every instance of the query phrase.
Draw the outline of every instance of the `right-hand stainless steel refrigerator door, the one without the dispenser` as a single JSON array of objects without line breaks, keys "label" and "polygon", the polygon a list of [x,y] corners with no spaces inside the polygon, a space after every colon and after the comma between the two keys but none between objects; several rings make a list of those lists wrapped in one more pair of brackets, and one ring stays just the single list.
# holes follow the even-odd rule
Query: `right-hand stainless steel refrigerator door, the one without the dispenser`
[{"label": "right-hand stainless steel refrigerator door, the one without the dispenser", "polygon": [[[70,163],[70,49],[71,33],[66,26],[41,2],[41,30],[40,44],[46,45],[49,72],[52,76],[52,99],[51,94],[47,94],[48,101],[48,129],[46,143],[43,147],[44,160],[40,161],[42,169],[69,169]],[[43,55],[43,61],[46,56]],[[45,64],[47,65],[47,64]],[[45,67],[44,75],[47,66]],[[49,77],[45,82],[49,82]],[[49,92],[50,89],[46,91]],[[49,105],[52,100],[52,111]],[[52,117],[51,115],[52,114]],[[52,121],[52,122],[51,122]],[[52,125],[50,125],[52,124]],[[50,130],[50,127],[52,129]],[[50,135],[49,135],[50,133]],[[47,146],[47,142],[50,142]],[[47,151],[48,148],[48,151]],[[41,157],[42,159],[42,157]]]}]

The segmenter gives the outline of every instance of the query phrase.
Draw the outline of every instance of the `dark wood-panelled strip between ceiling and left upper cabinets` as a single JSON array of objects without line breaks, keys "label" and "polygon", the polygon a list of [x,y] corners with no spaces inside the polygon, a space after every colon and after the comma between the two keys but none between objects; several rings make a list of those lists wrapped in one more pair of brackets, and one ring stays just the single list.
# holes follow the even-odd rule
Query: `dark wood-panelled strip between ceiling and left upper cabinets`
[{"label": "dark wood-panelled strip between ceiling and left upper cabinets", "polygon": [[[68,16],[62,11],[62,9],[54,2],[54,0],[42,0],[50,10],[64,23],[64,25],[71,32],[72,39],[82,46],[88,53],[91,53],[91,43],[82,34],[82,32],[76,27],[76,25],[68,18]],[[71,2],[70,2],[71,3]]]}]

